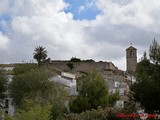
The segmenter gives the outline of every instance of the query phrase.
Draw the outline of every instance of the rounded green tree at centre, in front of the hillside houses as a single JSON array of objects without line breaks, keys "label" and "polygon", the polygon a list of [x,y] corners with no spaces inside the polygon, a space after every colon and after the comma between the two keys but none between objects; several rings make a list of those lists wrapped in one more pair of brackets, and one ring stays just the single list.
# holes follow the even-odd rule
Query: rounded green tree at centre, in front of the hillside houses
[{"label": "rounded green tree at centre, in front of the hillside houses", "polygon": [[[70,103],[70,110],[75,113],[81,113],[85,110],[97,109],[98,106],[108,107],[109,92],[106,81],[97,71],[82,76],[81,85],[78,90],[78,96]],[[115,96],[113,95],[115,98]],[[112,99],[117,100],[117,99]],[[112,103],[114,103],[112,101]]]}]

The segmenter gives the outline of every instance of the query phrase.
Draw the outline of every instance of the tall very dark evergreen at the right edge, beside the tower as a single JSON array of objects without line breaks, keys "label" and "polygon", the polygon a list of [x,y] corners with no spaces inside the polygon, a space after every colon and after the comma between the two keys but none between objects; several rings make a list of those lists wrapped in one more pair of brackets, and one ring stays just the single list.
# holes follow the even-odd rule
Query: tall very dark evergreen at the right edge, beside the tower
[{"label": "tall very dark evergreen at the right edge, beside the tower", "polygon": [[[135,102],[139,102],[148,112],[160,110],[160,48],[158,43],[153,41],[150,47],[150,60],[145,57],[137,64],[136,82],[131,86],[132,95]],[[153,62],[152,62],[153,61]]]}]

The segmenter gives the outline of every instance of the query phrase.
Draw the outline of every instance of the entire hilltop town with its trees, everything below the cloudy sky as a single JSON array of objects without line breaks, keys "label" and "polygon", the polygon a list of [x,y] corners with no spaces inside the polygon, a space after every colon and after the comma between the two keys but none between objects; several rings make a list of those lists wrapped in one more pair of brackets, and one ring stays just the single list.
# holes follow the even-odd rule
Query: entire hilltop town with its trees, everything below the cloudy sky
[{"label": "entire hilltop town with its trees, everything below the cloudy sky", "polygon": [[137,63],[137,49],[131,45],[123,71],[107,61],[46,59],[45,48],[38,46],[33,54],[37,63],[0,64],[0,117],[159,119],[159,50],[154,40],[150,58],[144,52]]}]

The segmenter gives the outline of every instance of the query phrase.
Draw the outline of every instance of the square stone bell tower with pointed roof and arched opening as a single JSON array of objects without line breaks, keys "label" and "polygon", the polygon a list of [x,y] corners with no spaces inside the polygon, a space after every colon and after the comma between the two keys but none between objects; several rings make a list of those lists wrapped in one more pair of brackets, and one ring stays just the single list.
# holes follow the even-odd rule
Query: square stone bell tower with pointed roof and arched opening
[{"label": "square stone bell tower with pointed roof and arched opening", "polygon": [[137,49],[132,45],[126,49],[127,72],[134,73],[137,66]]}]

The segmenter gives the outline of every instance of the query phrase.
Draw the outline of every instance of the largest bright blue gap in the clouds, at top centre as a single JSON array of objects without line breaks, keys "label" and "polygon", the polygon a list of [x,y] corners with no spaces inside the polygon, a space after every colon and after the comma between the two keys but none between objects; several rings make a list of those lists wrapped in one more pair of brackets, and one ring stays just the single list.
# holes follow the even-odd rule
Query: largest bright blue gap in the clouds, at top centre
[{"label": "largest bright blue gap in the clouds, at top centre", "polygon": [[65,0],[65,2],[69,4],[65,12],[71,12],[75,20],[93,20],[101,14],[101,10],[95,5],[96,0]]}]

